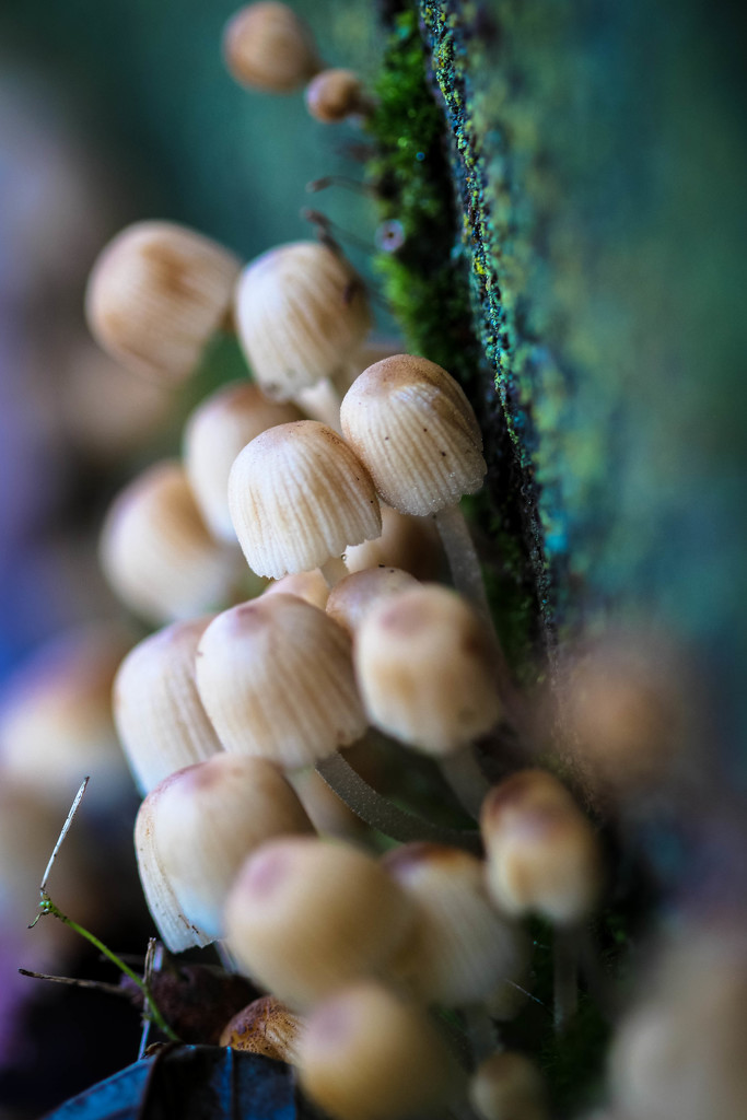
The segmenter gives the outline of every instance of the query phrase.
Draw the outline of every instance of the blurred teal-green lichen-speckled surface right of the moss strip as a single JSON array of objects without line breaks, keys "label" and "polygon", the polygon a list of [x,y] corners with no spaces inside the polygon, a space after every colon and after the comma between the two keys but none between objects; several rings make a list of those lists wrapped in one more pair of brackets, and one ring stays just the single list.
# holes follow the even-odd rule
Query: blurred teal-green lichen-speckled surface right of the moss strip
[{"label": "blurred teal-green lichen-speckled surface right of the moss strip", "polygon": [[[702,3],[420,4],[458,251],[564,635],[661,624],[745,719],[743,27]],[[458,16],[457,16],[458,12]]]}]

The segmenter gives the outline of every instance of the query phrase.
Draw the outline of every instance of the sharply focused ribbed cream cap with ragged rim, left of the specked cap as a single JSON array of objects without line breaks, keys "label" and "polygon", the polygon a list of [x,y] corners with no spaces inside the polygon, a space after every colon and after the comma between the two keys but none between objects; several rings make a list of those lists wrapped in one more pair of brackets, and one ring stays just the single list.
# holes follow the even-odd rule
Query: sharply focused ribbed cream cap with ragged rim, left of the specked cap
[{"label": "sharply focused ribbed cream cap with ragged rim, left of the specked cap", "polygon": [[381,533],[368,472],[316,420],[253,439],[232,467],[228,506],[249,567],[272,579],[318,568]]}]

